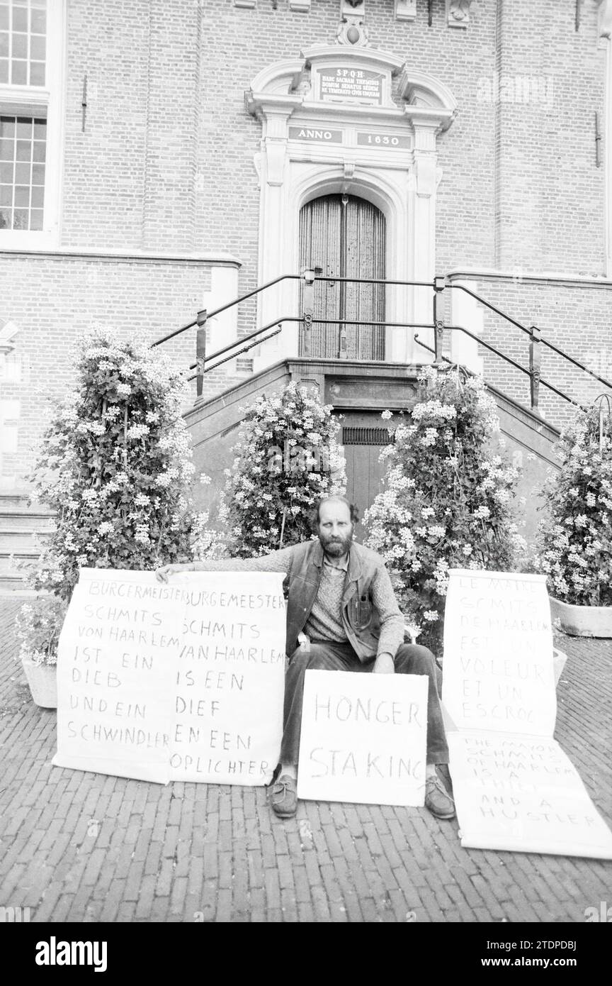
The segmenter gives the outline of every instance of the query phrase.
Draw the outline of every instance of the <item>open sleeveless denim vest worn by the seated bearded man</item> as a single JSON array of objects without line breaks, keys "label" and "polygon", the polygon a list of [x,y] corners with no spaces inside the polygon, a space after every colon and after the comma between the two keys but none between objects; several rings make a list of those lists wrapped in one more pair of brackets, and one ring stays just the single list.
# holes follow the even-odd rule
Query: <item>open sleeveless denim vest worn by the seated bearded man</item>
[{"label": "open sleeveless denim vest worn by the seated bearded man", "polygon": [[[288,572],[287,643],[289,657],[297,647],[297,635],[310,616],[323,568],[323,548],[319,540],[296,544]],[[350,546],[348,571],[344,580],[341,618],[344,633],[360,661],[376,657],[380,634],[379,616],[372,602],[370,587],[384,565],[375,551],[356,544]]]}]

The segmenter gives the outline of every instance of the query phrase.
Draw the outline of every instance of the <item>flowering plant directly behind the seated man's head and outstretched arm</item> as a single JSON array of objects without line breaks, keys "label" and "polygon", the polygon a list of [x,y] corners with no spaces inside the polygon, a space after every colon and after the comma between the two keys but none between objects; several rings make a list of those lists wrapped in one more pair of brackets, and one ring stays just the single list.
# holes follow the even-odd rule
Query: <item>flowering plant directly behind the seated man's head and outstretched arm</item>
[{"label": "flowering plant directly behind the seated man's head and outstretched arm", "polygon": [[258,557],[308,539],[315,502],[346,485],[338,427],[332,406],[306,387],[289,384],[260,397],[225,469],[217,530],[208,528],[208,515],[198,521],[195,557]]}]

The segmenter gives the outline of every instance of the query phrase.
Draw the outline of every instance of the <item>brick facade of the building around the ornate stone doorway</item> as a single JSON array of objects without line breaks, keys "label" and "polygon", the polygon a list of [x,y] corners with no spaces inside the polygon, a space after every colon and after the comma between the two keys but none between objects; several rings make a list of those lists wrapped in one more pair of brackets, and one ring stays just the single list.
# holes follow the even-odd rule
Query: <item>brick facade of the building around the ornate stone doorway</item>
[{"label": "brick facade of the building around the ornate stone doorway", "polygon": [[[58,252],[0,252],[0,319],[19,327],[6,357],[13,370],[0,380],[0,402],[20,401],[19,447],[2,459],[5,485],[31,463],[42,399],[67,387],[69,356],[85,327],[107,321],[129,333],[146,324],[154,338],[191,320],[210,291],[215,257],[237,258],[240,293],[257,284],[262,130],[244,93],[267,65],[333,43],[339,21],[339,0],[312,0],[307,13],[288,0],[257,0],[252,9],[233,0],[66,6]],[[472,0],[460,30],[449,26],[444,3],[433,5],[429,27],[427,6],[418,0],[415,20],[398,21],[393,0],[366,0],[365,23],[374,47],[437,77],[458,103],[455,122],[438,137],[437,271],[504,272],[473,279],[494,304],[535,321],[610,376],[610,283],[529,281],[610,274],[603,154],[599,167],[595,160],[606,71],[597,5],[582,4],[579,31],[571,2]],[[78,255],[92,250],[111,255]],[[127,255],[112,255],[119,250]],[[239,333],[252,330],[253,314],[244,307]],[[503,335],[500,348],[520,352],[526,365],[519,330],[487,316],[484,331],[486,339]],[[192,332],[174,345],[181,365],[193,362],[193,341]],[[545,359],[544,376],[554,371],[579,399],[593,395]],[[207,392],[244,379],[246,366],[236,376],[227,364]],[[485,368],[524,399],[516,374],[489,358]],[[543,411],[556,411],[553,404],[543,399]]]}]

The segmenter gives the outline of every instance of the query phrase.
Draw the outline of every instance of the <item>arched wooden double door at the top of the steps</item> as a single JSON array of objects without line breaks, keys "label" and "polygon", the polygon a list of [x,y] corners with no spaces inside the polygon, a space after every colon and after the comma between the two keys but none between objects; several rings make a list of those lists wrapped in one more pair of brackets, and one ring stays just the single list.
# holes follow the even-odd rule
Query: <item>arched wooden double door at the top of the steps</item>
[{"label": "arched wooden double door at the top of the steps", "polygon": [[384,278],[385,249],[385,216],[363,198],[323,195],[302,208],[300,270],[333,278],[315,282],[313,316],[324,321],[313,323],[311,356],[385,359],[385,328],[376,324],[385,320],[385,286],[334,280]]}]

